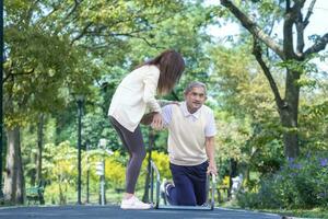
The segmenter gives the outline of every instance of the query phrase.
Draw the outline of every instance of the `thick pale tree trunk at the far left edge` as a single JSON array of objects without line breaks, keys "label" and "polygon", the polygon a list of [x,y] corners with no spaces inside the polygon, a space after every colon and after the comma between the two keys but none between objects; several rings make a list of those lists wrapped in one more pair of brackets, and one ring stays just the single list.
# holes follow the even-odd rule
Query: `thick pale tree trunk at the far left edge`
[{"label": "thick pale tree trunk at the far left edge", "polygon": [[11,204],[24,204],[24,174],[21,155],[20,128],[14,127],[8,132],[7,165],[4,174],[4,198]]}]

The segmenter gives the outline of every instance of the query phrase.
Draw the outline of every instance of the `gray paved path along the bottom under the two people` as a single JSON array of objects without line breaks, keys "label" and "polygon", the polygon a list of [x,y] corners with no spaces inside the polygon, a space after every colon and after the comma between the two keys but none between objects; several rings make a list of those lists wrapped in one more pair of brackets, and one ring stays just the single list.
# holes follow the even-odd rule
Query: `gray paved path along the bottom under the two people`
[{"label": "gray paved path along the bottom under the two people", "polygon": [[0,219],[281,219],[278,215],[215,208],[204,210],[121,210],[119,206],[0,207]]}]

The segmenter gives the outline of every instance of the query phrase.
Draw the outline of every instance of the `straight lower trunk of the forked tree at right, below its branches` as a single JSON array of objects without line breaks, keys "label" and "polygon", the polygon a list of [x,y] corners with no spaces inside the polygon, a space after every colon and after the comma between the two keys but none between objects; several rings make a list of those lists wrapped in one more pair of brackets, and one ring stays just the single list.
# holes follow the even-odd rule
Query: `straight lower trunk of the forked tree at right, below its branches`
[{"label": "straight lower trunk of the forked tree at right, below its branches", "polygon": [[280,118],[283,131],[284,154],[286,158],[296,158],[300,153],[298,135],[297,135],[297,112],[300,87],[296,84],[300,79],[300,73],[288,70],[285,83],[285,103],[286,105],[280,108]]}]

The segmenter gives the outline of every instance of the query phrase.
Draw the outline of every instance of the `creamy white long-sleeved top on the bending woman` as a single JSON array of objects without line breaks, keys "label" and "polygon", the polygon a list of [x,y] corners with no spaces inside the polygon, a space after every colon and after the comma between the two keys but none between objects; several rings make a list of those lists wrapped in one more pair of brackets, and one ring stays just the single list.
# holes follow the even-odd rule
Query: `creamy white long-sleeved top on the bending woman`
[{"label": "creamy white long-sleeved top on the bending woman", "polygon": [[134,131],[147,107],[151,112],[160,112],[155,100],[160,69],[154,65],[145,65],[130,72],[117,87],[108,111],[120,125]]}]

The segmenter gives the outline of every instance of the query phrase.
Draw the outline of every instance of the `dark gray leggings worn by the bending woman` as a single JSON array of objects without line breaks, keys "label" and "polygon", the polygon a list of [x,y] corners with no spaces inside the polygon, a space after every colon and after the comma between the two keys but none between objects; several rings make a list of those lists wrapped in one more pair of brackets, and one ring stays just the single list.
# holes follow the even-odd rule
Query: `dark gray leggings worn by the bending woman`
[{"label": "dark gray leggings worn by the bending woman", "polygon": [[138,126],[133,132],[121,126],[114,117],[109,116],[113,127],[119,135],[122,145],[128,150],[130,159],[126,171],[126,192],[134,194],[141,164],[145,158],[144,142],[141,129]]}]

